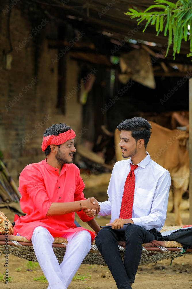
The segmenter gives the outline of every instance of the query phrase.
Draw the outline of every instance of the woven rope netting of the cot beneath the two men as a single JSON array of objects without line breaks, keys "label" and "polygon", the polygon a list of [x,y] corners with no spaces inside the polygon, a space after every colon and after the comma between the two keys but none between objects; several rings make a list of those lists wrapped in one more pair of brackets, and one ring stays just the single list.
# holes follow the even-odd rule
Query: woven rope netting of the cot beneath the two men
[{"label": "woven rope netting of the cot beneath the two men", "polygon": [[[66,243],[62,244],[53,244],[54,253],[58,259],[58,262],[61,263],[66,251]],[[124,260],[125,249],[119,246],[119,251],[121,254],[122,260]],[[4,253],[12,254],[16,257],[20,257],[25,260],[37,262],[35,252],[33,250],[33,245],[30,242],[17,242],[9,241],[8,246],[5,246],[4,241],[0,241],[0,255]],[[142,256],[139,265],[155,263],[157,261],[169,258],[177,258],[183,255],[192,254],[192,249],[187,249],[183,252],[183,248],[164,248],[164,247],[143,247]],[[103,257],[98,251],[96,245],[91,246],[90,252],[85,256],[82,264],[98,264],[106,265]]]}]

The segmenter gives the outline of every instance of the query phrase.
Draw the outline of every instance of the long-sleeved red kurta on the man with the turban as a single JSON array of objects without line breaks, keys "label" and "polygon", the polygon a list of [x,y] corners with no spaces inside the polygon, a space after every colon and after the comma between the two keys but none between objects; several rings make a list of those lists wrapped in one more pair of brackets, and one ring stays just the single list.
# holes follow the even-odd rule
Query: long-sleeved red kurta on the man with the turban
[{"label": "long-sleeved red kurta on the man with the turban", "polygon": [[[26,166],[19,178],[19,191],[22,196],[20,206],[26,216],[20,217],[15,222],[14,235],[19,233],[29,240],[37,226],[46,227],[53,237],[60,237],[67,232],[85,230],[75,226],[75,212],[46,217],[52,203],[86,200],[83,194],[84,186],[75,164],[64,164],[60,175],[58,168],[48,165],[46,159]],[[83,211],[77,214],[84,222],[92,219]],[[94,240],[94,233],[89,232]]]}]

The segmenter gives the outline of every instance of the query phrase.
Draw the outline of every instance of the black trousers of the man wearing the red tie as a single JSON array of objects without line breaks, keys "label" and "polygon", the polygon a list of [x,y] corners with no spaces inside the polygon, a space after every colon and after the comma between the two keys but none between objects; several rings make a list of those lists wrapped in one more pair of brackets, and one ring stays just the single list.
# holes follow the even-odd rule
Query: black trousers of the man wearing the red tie
[{"label": "black trousers of the man wearing the red tie", "polygon": [[[106,227],[99,231],[95,243],[118,289],[130,289],[130,283],[134,283],[142,254],[142,243],[159,240],[160,236],[161,234],[156,229],[147,231],[134,224],[128,225],[125,232]],[[124,264],[119,253],[118,241],[126,243]]]}]

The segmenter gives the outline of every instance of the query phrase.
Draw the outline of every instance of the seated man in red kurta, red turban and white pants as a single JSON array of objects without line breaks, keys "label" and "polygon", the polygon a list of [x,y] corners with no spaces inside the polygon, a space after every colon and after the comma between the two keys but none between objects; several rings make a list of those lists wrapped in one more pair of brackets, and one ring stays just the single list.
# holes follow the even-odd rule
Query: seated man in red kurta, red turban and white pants
[{"label": "seated man in red kurta, red turban and white pants", "polygon": [[[48,289],[65,289],[90,251],[94,233],[74,224],[75,212],[96,233],[99,226],[83,209],[98,212],[98,207],[83,194],[79,169],[72,164],[75,133],[60,123],[45,133],[42,150],[47,158],[30,164],[20,174],[20,206],[26,216],[19,218],[14,234],[32,240],[41,269],[49,282]],[[67,238],[68,245],[59,265],[52,250],[54,237]]]}]

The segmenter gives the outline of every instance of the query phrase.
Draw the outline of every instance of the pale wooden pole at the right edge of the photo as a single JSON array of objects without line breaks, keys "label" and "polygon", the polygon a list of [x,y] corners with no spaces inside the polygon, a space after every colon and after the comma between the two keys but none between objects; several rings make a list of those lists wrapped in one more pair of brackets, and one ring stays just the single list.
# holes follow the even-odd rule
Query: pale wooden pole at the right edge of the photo
[{"label": "pale wooden pole at the right edge of the photo", "polygon": [[189,79],[189,225],[192,224],[192,78]]}]

